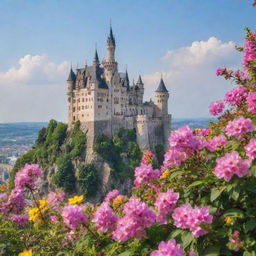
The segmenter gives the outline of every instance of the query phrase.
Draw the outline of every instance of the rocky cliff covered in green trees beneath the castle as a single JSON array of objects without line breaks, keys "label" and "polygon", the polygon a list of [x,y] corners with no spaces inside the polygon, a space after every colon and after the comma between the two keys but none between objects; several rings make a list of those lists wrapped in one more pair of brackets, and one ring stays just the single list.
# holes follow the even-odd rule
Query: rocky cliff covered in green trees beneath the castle
[{"label": "rocky cliff covered in green trees beneath the castle", "polygon": [[112,189],[129,194],[133,170],[142,155],[135,132],[119,129],[113,138],[97,136],[90,155],[87,141],[79,122],[68,130],[66,124],[51,120],[39,132],[34,147],[17,160],[10,186],[20,168],[37,163],[44,170],[42,193],[62,189],[68,194],[84,194],[91,202],[100,201]]}]

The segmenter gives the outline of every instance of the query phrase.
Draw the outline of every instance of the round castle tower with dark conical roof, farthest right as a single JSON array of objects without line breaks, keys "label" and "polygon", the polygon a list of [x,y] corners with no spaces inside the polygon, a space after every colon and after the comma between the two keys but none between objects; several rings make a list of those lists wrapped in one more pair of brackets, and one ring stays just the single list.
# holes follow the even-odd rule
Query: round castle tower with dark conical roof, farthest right
[{"label": "round castle tower with dark conical roof, farthest right", "polygon": [[168,99],[169,92],[166,89],[163,78],[161,77],[160,83],[155,91],[156,105],[160,111],[160,116],[168,115]]}]

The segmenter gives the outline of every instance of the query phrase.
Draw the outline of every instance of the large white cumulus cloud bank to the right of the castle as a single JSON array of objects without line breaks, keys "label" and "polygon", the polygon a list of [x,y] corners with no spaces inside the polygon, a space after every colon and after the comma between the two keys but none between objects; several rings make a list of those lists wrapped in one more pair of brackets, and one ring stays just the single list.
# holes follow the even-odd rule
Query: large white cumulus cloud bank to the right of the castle
[{"label": "large white cumulus cloud bank to the right of the castle", "polygon": [[162,73],[170,92],[169,112],[174,117],[209,117],[209,103],[223,98],[232,88],[229,82],[216,77],[216,68],[238,68],[240,60],[234,42],[222,42],[216,37],[167,51],[160,59],[163,69],[143,77],[146,98],[152,96]]}]

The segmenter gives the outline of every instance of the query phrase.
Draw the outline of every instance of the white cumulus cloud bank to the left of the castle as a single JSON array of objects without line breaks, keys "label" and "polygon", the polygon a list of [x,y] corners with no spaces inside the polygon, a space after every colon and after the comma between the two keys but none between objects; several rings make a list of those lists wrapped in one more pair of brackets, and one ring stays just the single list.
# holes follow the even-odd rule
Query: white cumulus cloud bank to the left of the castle
[{"label": "white cumulus cloud bank to the left of the castle", "polygon": [[46,54],[26,55],[0,72],[0,122],[66,120],[66,84],[70,64]]}]

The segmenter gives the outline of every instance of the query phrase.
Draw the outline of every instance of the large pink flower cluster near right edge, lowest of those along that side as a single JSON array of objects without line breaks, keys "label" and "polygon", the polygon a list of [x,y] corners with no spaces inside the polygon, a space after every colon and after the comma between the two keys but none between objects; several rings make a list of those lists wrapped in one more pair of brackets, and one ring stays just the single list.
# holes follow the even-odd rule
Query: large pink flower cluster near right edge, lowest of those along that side
[{"label": "large pink flower cluster near right edge, lowest of those along that side", "polygon": [[217,159],[217,165],[213,172],[218,178],[230,180],[234,175],[243,177],[249,175],[249,161],[242,159],[239,154],[234,151],[226,153],[223,157]]}]

